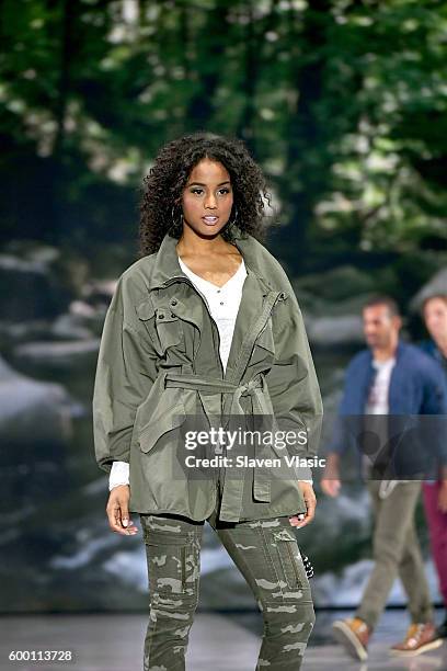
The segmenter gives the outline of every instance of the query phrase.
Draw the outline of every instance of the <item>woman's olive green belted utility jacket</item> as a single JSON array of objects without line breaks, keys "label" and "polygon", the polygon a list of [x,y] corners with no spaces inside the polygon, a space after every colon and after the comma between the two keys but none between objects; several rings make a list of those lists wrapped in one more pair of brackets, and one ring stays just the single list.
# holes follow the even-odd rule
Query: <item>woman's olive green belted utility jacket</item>
[{"label": "woman's olive green belted utility jacket", "polygon": [[[180,268],[175,238],[165,235],[158,252],[118,278],[98,359],[93,436],[101,468],[108,473],[114,460],[129,463],[130,512],[197,521],[213,512],[216,478],[173,470],[186,416],[209,425],[216,417],[270,416],[276,429],[306,431],[307,442],[286,452],[263,446],[263,457],[317,454],[322,402],[296,296],[279,262],[254,237],[237,231],[248,275],[225,373],[217,325]],[[228,471],[221,520],[306,510],[296,469],[288,469],[288,479],[263,464],[239,477]]]}]

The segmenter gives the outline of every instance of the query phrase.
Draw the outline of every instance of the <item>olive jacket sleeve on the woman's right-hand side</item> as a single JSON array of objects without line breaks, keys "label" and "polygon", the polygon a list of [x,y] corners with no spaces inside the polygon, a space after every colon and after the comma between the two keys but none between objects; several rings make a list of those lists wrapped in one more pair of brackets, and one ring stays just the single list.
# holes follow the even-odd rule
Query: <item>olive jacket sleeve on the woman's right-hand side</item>
[{"label": "olive jacket sleeve on the woman's right-hand side", "polygon": [[300,456],[312,457],[319,448],[323,405],[301,310],[290,284],[272,321],[275,361],[265,379],[275,419],[280,430],[307,431]]}]

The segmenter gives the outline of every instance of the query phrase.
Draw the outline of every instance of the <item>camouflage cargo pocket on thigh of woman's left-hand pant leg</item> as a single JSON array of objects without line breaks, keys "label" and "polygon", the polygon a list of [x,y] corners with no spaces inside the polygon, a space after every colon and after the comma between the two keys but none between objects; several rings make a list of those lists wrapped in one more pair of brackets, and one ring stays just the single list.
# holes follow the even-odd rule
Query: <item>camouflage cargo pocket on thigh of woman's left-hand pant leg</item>
[{"label": "camouflage cargo pocket on thigh of woman's left-hand pant leg", "polygon": [[[170,522],[171,523],[171,522]],[[160,525],[164,521],[160,521]],[[175,522],[172,521],[175,526]],[[182,600],[191,606],[198,601],[200,572],[199,539],[194,532],[177,533],[149,528],[142,523],[148,560],[149,589],[164,607],[181,607]]]}]

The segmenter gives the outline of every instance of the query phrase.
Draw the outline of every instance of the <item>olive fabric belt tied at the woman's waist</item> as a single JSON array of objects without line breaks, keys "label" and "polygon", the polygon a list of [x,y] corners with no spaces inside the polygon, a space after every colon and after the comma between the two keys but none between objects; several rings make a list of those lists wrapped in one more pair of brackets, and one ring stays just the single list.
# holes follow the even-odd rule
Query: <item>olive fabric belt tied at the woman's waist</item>
[{"label": "olive fabric belt tied at the woman's waist", "polygon": [[[271,416],[272,409],[264,394],[264,378],[254,377],[248,383],[236,385],[227,379],[216,377],[207,377],[205,375],[196,375],[194,373],[172,373],[165,374],[167,387],[182,387],[184,389],[195,389],[197,391],[207,391],[211,394],[232,394],[230,417],[233,414],[245,414],[240,403],[242,396],[251,396],[253,405],[253,414]],[[200,395],[204,401],[204,396]],[[205,397],[206,398],[206,397]],[[204,402],[206,407],[206,400]],[[261,445],[263,447],[263,445]],[[259,501],[271,501],[271,474],[261,466],[253,467],[253,494]],[[234,486],[241,488],[239,498],[242,498],[243,480],[230,480]],[[228,482],[228,480],[226,480]],[[225,494],[224,494],[225,496]]]}]

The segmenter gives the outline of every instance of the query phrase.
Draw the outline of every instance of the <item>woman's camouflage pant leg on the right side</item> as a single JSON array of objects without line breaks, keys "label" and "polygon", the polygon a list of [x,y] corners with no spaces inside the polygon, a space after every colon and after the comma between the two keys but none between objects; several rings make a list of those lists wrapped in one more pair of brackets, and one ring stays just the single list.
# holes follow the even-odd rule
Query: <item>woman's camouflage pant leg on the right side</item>
[{"label": "woman's camouflage pant leg on the right side", "polygon": [[298,671],[314,624],[309,580],[288,518],[208,519],[253,591],[264,619],[256,670]]}]

